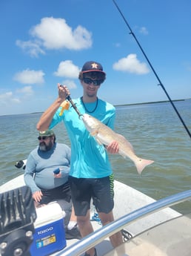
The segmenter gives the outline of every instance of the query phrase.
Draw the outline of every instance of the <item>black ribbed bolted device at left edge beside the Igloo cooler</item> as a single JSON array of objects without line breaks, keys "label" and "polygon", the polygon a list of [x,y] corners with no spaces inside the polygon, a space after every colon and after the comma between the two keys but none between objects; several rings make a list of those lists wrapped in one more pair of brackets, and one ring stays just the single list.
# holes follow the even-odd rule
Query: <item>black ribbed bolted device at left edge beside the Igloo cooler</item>
[{"label": "black ribbed bolted device at left edge beside the Igloo cooler", "polygon": [[0,194],[0,256],[30,256],[36,217],[28,186]]}]

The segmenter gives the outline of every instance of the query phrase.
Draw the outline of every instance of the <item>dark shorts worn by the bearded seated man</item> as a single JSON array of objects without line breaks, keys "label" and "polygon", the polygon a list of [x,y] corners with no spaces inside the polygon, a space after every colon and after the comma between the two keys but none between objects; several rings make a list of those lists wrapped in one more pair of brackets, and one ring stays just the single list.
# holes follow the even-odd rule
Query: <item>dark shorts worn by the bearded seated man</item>
[{"label": "dark shorts worn by the bearded seated man", "polygon": [[41,192],[43,194],[40,201],[41,204],[47,204],[58,199],[66,200],[67,202],[71,200],[71,189],[68,182],[53,189],[41,188]]}]

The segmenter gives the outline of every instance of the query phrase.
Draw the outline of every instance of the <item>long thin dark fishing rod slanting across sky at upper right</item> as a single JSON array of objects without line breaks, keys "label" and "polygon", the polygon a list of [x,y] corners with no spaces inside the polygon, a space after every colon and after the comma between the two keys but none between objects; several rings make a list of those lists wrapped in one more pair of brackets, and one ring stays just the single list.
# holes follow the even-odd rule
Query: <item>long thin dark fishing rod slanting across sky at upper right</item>
[{"label": "long thin dark fishing rod slanting across sky at upper right", "polygon": [[163,83],[161,82],[161,79],[159,79],[157,73],[155,72],[155,69],[153,68],[153,65],[150,63],[150,60],[147,58],[146,53],[144,53],[143,48],[141,47],[140,43],[138,42],[138,39],[136,38],[135,34],[133,33],[133,30],[131,29],[131,27],[130,27],[130,25],[128,24],[127,20],[124,18],[123,13],[121,13],[121,10],[119,9],[118,4],[116,4],[115,0],[113,0],[113,3],[115,4],[115,7],[118,9],[118,11],[119,11],[119,13],[121,14],[122,18],[124,19],[124,22],[127,24],[127,27],[128,27],[129,30],[130,30],[130,34],[134,37],[135,41],[136,41],[137,44],[138,44],[138,47],[141,49],[141,52],[144,54],[144,57],[147,59],[147,62],[149,63],[150,68],[153,70],[153,73],[155,74],[155,77],[158,79],[158,82],[159,82],[158,85],[161,85],[161,88],[163,89],[164,93],[167,95],[167,98],[170,100],[170,103],[171,103],[172,107],[174,108],[176,114],[178,115],[179,119],[181,120],[182,124],[184,125],[185,130],[187,131],[187,134],[190,136],[190,139],[191,139],[191,134],[190,134],[189,129],[187,128],[187,125],[185,124],[184,120],[181,118],[181,115],[179,114],[177,108],[175,108],[175,105],[174,105],[174,103],[172,102],[172,99],[170,99],[170,96],[169,96],[169,94],[167,93],[166,89],[164,88],[164,85],[163,85]]}]

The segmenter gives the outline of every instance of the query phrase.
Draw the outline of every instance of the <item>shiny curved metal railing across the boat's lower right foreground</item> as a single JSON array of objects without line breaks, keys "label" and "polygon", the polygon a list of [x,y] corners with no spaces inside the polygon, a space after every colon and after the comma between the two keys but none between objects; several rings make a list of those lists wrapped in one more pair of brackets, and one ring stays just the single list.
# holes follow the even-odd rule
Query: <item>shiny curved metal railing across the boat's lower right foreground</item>
[{"label": "shiny curved metal railing across the boat's lower right foreground", "polygon": [[64,249],[64,252],[58,252],[56,256],[81,255],[83,252],[87,251],[93,246],[96,246],[98,243],[101,243],[104,238],[110,237],[112,234],[121,231],[121,229],[124,229],[125,226],[130,225],[131,223],[134,223],[135,221],[140,220],[141,218],[153,214],[157,211],[161,211],[162,209],[174,206],[189,199],[191,199],[191,190],[182,191],[178,194],[164,197],[161,200],[157,200],[154,203],[150,203],[147,206],[143,206],[140,209],[132,211],[129,214],[118,218],[118,220],[113,221],[113,223],[109,223],[106,226],[101,227],[101,229],[96,230],[87,237],[84,237],[82,240],[74,243],[72,246]]}]

